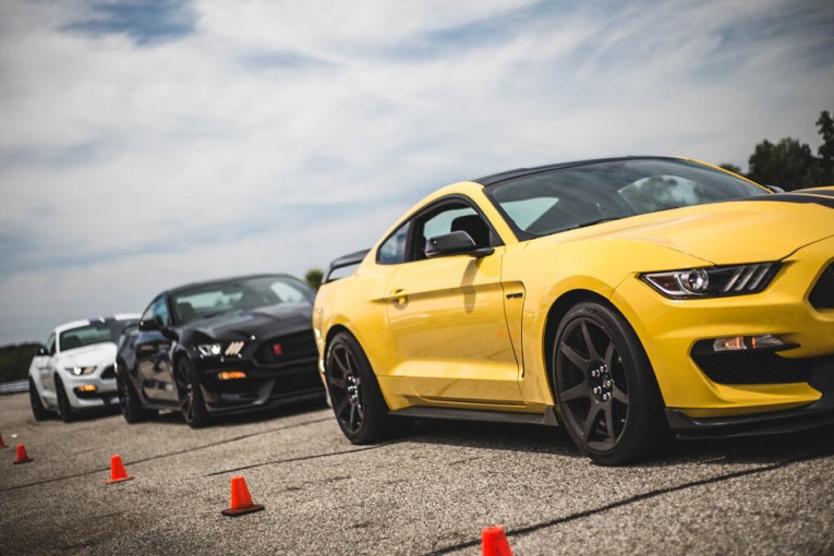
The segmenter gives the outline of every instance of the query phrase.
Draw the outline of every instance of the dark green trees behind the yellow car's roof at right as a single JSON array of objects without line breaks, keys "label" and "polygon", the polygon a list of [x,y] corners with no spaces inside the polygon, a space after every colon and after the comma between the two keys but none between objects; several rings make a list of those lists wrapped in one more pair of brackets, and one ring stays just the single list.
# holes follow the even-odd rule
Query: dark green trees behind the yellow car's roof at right
[{"label": "dark green trees behind the yellow car's roof at right", "polygon": [[748,159],[748,172],[732,164],[722,168],[762,184],[778,185],[785,191],[819,185],[834,185],[834,119],[823,110],[817,120],[822,144],[814,155],[811,147],[793,137],[778,143],[762,141]]}]

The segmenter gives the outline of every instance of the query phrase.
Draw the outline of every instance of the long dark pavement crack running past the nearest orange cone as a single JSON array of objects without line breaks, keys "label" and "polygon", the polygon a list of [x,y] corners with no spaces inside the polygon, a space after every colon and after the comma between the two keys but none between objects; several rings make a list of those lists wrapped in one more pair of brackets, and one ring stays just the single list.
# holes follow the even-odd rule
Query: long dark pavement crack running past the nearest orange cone
[{"label": "long dark pavement crack running past the nearest orange cone", "polygon": [[[568,523],[570,521],[576,521],[578,519],[588,518],[588,517],[591,517],[591,516],[595,516],[597,513],[603,513],[603,512],[608,511],[608,510],[613,510],[613,509],[616,509],[616,508],[621,508],[624,506],[629,506],[631,504],[637,504],[639,501],[648,500],[648,499],[651,499],[651,498],[656,498],[658,496],[663,496],[664,494],[686,491],[688,488],[694,488],[697,486],[703,486],[703,485],[708,485],[708,484],[722,483],[724,481],[730,481],[733,479],[738,479],[738,478],[741,478],[741,476],[756,475],[756,474],[759,474],[759,473],[766,473],[769,471],[775,471],[777,469],[783,469],[783,468],[786,468],[788,466],[793,466],[794,463],[800,463],[800,462],[803,462],[803,461],[811,461],[811,460],[814,460],[814,459],[818,459],[818,458],[824,458],[824,457],[827,457],[827,456],[831,456],[831,454],[827,452],[827,451],[826,452],[808,454],[808,455],[805,455],[805,456],[799,456],[799,457],[796,457],[796,458],[790,458],[790,459],[785,459],[785,460],[782,460],[782,461],[777,461],[776,463],[771,463],[770,466],[763,466],[763,467],[754,468],[754,469],[746,469],[746,470],[742,470],[742,471],[735,471],[733,473],[727,473],[725,475],[712,476],[712,478],[709,478],[709,479],[701,479],[699,481],[692,481],[692,482],[684,483],[684,484],[677,485],[677,486],[668,486],[666,488],[658,488],[656,491],[650,491],[648,493],[638,494],[638,495],[631,496],[629,498],[626,498],[626,499],[623,499],[623,500],[619,500],[619,501],[615,501],[615,503],[602,506],[600,508],[593,508],[593,509],[589,509],[589,510],[584,510],[584,511],[579,511],[577,513],[571,513],[569,516],[565,516],[565,517],[561,517],[561,518],[551,519],[551,520],[547,520],[547,521],[542,521],[540,523],[534,523],[532,525],[527,525],[527,527],[522,527],[522,528],[519,528],[519,529],[513,529],[513,530],[510,530],[510,531],[506,531],[506,535],[507,535],[508,539],[512,537],[512,536],[523,536],[525,534],[529,534],[529,533],[532,533],[532,532],[535,532],[535,531],[540,531],[542,529],[547,529],[547,528],[551,528],[551,527],[560,525],[563,523]],[[425,556],[439,556],[442,554],[450,554],[450,553],[454,553],[454,552],[462,551],[464,548],[472,548],[472,547],[480,546],[480,545],[481,545],[481,540],[476,539],[474,541],[467,541],[466,543],[458,543],[458,544],[454,544],[454,545],[450,545],[450,546],[445,546],[443,548],[438,548],[436,551],[432,551],[432,552],[425,553]]]}]

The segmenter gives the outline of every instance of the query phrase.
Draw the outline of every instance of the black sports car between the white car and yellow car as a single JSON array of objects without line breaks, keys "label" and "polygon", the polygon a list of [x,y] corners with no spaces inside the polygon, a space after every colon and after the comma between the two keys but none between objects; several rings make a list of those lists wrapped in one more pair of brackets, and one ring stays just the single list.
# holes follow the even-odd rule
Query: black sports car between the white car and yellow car
[{"label": "black sports car between the white car and yellow car", "polygon": [[312,330],[314,293],[287,275],[190,283],[161,292],[119,342],[122,414],[214,415],[324,399]]}]

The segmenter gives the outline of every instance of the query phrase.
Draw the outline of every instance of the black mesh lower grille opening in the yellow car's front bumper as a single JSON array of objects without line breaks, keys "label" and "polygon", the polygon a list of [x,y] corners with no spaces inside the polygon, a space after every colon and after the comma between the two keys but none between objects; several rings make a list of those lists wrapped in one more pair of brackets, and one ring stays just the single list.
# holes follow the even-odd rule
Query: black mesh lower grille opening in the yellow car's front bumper
[{"label": "black mesh lower grille opening in the yellow car's front bumper", "polygon": [[718,384],[807,383],[818,365],[831,365],[834,356],[779,356],[774,352],[739,352],[692,355],[710,380]]}]

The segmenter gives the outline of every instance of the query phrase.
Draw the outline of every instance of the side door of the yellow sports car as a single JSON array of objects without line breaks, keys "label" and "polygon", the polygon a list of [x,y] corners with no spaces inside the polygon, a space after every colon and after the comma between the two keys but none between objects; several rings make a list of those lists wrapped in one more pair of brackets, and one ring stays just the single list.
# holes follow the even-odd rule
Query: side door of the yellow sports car
[{"label": "side door of the yellow sports car", "polygon": [[[424,244],[424,239],[478,218],[472,208],[452,204],[433,210],[425,221],[416,219],[415,233]],[[488,245],[484,238],[480,241]],[[480,258],[425,258],[421,247],[422,259],[419,255],[398,265],[386,295],[396,361],[391,375],[403,378],[423,400],[521,403],[519,364],[504,310],[504,249]]]}]

